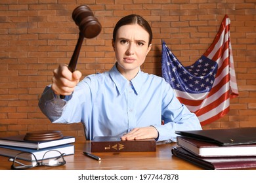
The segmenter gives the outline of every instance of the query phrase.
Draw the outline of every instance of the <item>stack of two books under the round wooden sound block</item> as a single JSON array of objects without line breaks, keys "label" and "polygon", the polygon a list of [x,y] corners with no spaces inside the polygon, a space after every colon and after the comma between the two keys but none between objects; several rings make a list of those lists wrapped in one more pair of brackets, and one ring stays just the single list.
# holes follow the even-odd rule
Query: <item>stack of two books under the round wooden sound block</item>
[{"label": "stack of two books under the round wooden sound block", "polygon": [[[74,142],[75,137],[72,136],[62,136],[61,138],[57,139],[50,138],[46,139],[45,141],[26,139],[26,135],[1,137],[0,156],[14,158],[20,152],[30,152],[35,155],[35,158],[37,158],[37,160],[41,160],[45,152],[49,150],[58,150],[61,154],[64,154],[64,156],[66,156],[74,154]],[[51,156],[49,156],[49,153],[47,154],[47,158],[51,158]]]}]

